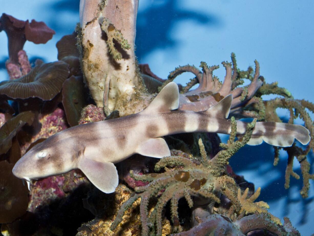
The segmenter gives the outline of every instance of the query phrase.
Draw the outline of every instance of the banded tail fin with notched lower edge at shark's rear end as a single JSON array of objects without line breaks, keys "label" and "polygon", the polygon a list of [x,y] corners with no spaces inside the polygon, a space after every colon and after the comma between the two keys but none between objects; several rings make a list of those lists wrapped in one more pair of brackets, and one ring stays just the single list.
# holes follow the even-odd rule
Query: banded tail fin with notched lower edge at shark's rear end
[{"label": "banded tail fin with notched lower edge at shark's rear end", "polygon": [[306,145],[311,139],[310,132],[301,125],[279,122],[256,122],[252,137],[247,144],[258,145],[265,141],[273,146],[290,147],[295,139]]}]

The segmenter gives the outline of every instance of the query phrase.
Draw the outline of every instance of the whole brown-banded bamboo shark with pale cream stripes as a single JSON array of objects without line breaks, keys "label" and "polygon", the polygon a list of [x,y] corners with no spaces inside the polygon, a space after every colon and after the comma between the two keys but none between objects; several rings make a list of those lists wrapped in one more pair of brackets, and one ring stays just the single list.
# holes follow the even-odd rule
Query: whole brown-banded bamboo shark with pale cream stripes
[{"label": "whole brown-banded bamboo shark with pale cream stripes", "polygon": [[[185,132],[229,134],[231,102],[230,94],[205,111],[176,110],[179,90],[171,82],[137,114],[73,126],[35,145],[15,164],[13,174],[30,181],[78,168],[101,191],[112,193],[118,185],[115,163],[135,153],[156,158],[170,156],[162,136]],[[237,121],[238,135],[245,133],[246,125]],[[295,139],[307,144],[309,131],[301,125],[257,122],[248,144],[265,141],[287,147]]]}]

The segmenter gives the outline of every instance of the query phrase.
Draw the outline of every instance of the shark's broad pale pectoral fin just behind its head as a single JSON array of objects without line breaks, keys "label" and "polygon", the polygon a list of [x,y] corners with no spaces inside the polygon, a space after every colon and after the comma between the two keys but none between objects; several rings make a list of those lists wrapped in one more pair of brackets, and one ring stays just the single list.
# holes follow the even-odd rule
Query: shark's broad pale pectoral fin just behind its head
[{"label": "shark's broad pale pectoral fin just behind its head", "polygon": [[78,168],[102,192],[110,194],[116,190],[119,177],[116,166],[113,163],[82,158],[78,164]]}]

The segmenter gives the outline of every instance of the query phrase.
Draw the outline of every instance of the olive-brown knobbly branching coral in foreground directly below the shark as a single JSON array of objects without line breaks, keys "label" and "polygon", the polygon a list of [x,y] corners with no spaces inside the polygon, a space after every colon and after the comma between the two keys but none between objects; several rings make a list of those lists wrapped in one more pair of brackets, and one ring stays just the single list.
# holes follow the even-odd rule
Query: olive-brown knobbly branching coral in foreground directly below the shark
[{"label": "olive-brown knobbly branching coral in foreground directly below the shark", "polygon": [[[185,198],[189,207],[192,208],[194,201],[193,196],[201,196],[216,203],[220,203],[219,195],[224,194],[233,206],[231,211],[235,216],[241,216],[252,213],[269,214],[265,208],[268,205],[263,202],[254,202],[260,194],[260,188],[255,194],[247,198],[248,189],[241,194],[241,189],[237,186],[233,178],[225,174],[225,166],[228,164],[230,157],[243,147],[252,135],[252,129],[255,126],[256,119],[250,123],[246,128],[245,135],[239,140],[235,141],[236,137],[236,121],[234,117],[231,118],[231,134],[230,139],[226,144],[222,144],[221,150],[215,157],[208,160],[203,143],[200,139],[199,146],[202,156],[201,163],[196,163],[191,159],[183,156],[169,156],[162,158],[156,165],[155,171],[158,172],[162,168],[165,172],[150,173],[145,175],[137,175],[131,171],[131,176],[135,180],[149,182],[145,186],[136,187],[137,192],[131,196],[118,211],[115,221],[111,225],[111,230],[114,230],[122,221],[124,212],[132,207],[133,202],[141,198],[140,214],[142,222],[142,235],[151,234],[161,235],[162,231],[162,213],[168,201],[171,202],[171,221],[173,223],[173,231],[181,231],[179,215],[178,215],[178,201]],[[179,167],[170,169],[168,167]],[[150,199],[159,196],[154,210],[149,216],[148,204]],[[272,222],[281,224],[277,217],[269,214]],[[275,224],[274,223],[274,224]],[[156,232],[154,232],[156,226]]]}]

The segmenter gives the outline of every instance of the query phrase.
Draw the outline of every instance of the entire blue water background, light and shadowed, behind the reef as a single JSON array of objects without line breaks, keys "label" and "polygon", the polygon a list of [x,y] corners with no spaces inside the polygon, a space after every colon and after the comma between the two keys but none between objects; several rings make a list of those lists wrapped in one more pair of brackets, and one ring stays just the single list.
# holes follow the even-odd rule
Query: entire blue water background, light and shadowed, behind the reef
[{"label": "entire blue water background, light and shadowed, behind the reef", "polygon": [[[235,52],[239,68],[254,67],[257,59],[268,83],[278,81],[294,98],[314,102],[314,1],[140,0],[139,4],[136,54],[139,62],[148,63],[156,75],[166,78],[176,66],[198,66],[200,61],[217,65],[230,61],[230,53]],[[26,42],[24,49],[31,61],[57,60],[56,42],[72,33],[79,21],[78,0],[1,0],[0,9],[21,20],[44,21],[56,31],[46,44]],[[4,32],[0,33],[0,42],[0,80],[4,80],[8,59]],[[221,66],[214,74],[222,80],[225,70]],[[187,73],[175,81],[183,84],[189,78],[192,74]],[[288,115],[285,110],[280,114]],[[309,160],[313,173],[313,156]],[[246,146],[231,158],[238,174],[262,187],[258,200],[268,202],[271,213],[281,220],[288,216],[301,235],[311,235],[314,183],[310,181],[307,199],[299,194],[302,180],[291,178],[290,188],[284,189],[286,162],[287,156],[281,152],[279,164],[274,167],[273,149],[267,144]],[[300,174],[297,162],[294,171]]]}]

